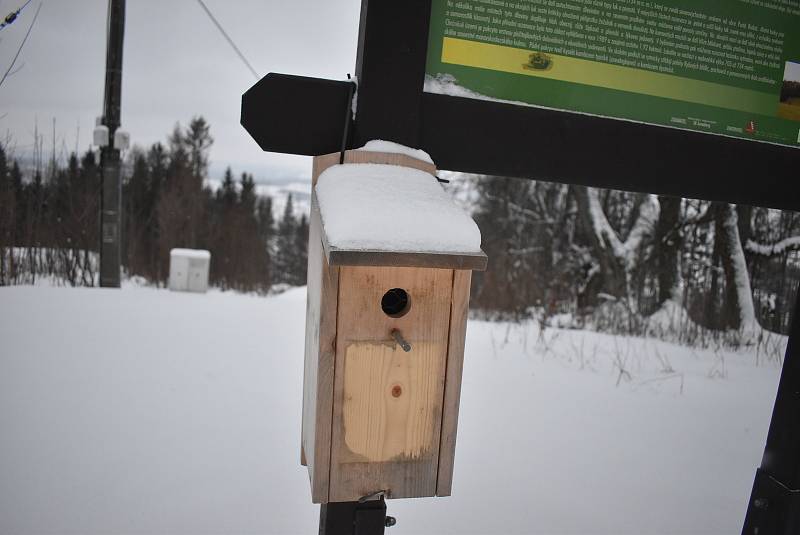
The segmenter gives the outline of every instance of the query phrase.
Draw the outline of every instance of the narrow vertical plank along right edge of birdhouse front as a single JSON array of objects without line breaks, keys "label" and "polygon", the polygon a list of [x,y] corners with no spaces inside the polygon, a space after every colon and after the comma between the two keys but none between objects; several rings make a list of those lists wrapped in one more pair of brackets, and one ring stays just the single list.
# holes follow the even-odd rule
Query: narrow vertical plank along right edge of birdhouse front
[{"label": "narrow vertical plank along right edge of birdhouse front", "polygon": [[461,375],[464,370],[464,345],[469,314],[471,271],[453,273],[453,299],[450,308],[450,333],[447,344],[447,372],[442,407],[442,433],[439,446],[437,496],[450,496],[453,485],[453,463],[456,454],[458,407],[461,399]]}]

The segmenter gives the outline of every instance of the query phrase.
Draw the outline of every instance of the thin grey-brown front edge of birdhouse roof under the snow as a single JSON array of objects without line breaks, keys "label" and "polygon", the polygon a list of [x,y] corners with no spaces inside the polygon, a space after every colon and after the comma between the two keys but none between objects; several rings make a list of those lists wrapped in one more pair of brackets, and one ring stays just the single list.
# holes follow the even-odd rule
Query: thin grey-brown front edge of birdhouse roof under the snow
[{"label": "thin grey-brown front edge of birdhouse roof under the snow", "polygon": [[324,240],[328,263],[332,266],[400,266],[485,271],[488,258],[480,253],[408,253],[338,249]]}]

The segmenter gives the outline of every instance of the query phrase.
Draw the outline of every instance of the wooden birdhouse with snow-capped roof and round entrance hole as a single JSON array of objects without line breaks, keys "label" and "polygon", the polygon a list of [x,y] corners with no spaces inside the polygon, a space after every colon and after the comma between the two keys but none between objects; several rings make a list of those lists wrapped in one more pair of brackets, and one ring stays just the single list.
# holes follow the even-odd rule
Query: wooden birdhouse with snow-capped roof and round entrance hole
[{"label": "wooden birdhouse with snow-capped roof and round entrance hole", "polygon": [[487,259],[417,155],[314,159],[301,448],[314,503],[450,495],[470,279]]}]

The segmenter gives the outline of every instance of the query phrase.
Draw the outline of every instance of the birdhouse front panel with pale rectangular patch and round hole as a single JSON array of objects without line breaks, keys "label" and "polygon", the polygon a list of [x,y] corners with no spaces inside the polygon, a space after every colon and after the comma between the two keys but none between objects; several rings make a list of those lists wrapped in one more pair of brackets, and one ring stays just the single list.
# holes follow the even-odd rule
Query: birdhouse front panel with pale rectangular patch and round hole
[{"label": "birdhouse front panel with pale rectangular patch and round hole", "polygon": [[[381,309],[383,294],[392,288],[403,288],[410,298],[399,318]],[[340,268],[330,501],[379,490],[390,498],[436,494],[452,288],[452,270]],[[394,349],[393,329],[411,344],[409,353]],[[354,369],[369,357],[377,361],[374,368]],[[386,396],[398,394],[396,386],[402,401],[392,405]],[[409,417],[404,407],[423,414]]]}]

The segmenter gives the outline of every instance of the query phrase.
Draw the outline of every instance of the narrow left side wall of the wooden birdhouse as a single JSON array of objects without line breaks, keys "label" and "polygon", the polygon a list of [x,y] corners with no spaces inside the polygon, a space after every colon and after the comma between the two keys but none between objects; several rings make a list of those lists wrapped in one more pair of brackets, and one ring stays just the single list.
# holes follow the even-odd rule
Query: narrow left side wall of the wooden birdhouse
[{"label": "narrow left side wall of the wooden birdhouse", "polygon": [[[312,192],[312,205],[315,201]],[[339,294],[339,268],[328,265],[322,250],[321,233],[319,212],[312,210],[308,244],[301,462],[305,461],[308,466],[314,503],[328,501]]]}]

